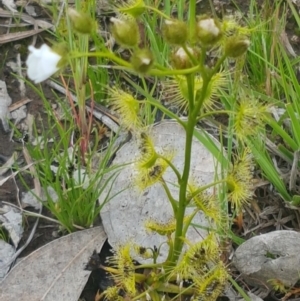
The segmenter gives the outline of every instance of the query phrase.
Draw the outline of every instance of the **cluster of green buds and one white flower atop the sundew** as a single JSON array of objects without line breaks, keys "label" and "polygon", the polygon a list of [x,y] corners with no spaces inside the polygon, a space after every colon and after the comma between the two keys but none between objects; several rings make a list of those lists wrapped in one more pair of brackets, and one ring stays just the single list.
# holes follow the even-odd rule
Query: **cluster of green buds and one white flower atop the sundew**
[{"label": "cluster of green buds and one white flower atop the sundew", "polygon": [[[110,19],[111,32],[117,43],[125,48],[133,49],[131,64],[138,73],[146,73],[151,70],[154,61],[148,48],[139,49],[140,30],[136,17],[145,11],[145,7],[142,0],[130,1],[125,7],[116,8],[119,11],[118,17]],[[69,8],[68,15],[74,30],[79,34],[90,34],[95,30],[94,21],[86,13]],[[232,21],[220,23],[216,19],[202,16],[198,18],[195,30],[201,46],[213,47],[223,44],[223,51],[228,57],[237,58],[245,53],[250,45],[248,32]],[[224,39],[224,36],[233,30],[235,30],[234,34]],[[198,59],[199,52],[194,46],[189,47],[188,45],[187,24],[180,20],[167,19],[164,22],[162,34],[167,43],[179,46],[173,53],[174,67],[185,69],[192,66],[191,56]],[[59,62],[67,60],[66,53],[57,52],[46,44],[42,45],[40,49],[30,46],[29,51],[30,54],[26,61],[27,74],[35,83],[40,83],[56,73],[62,67]]]}]

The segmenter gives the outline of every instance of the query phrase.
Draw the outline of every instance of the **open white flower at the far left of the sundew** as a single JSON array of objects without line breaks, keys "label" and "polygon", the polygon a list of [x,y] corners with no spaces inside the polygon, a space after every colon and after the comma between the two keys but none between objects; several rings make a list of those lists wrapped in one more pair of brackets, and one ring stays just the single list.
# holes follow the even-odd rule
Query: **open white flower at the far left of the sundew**
[{"label": "open white flower at the far left of the sundew", "polygon": [[26,60],[27,75],[38,84],[59,70],[57,66],[61,56],[54,52],[48,45],[43,44],[37,49],[34,46],[29,46],[30,51]]}]

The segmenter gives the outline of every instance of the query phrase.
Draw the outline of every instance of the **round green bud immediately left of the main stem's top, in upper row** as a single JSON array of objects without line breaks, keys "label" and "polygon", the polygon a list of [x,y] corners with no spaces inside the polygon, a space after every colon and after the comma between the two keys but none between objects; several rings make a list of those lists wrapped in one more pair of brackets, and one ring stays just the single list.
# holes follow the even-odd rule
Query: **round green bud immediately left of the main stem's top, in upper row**
[{"label": "round green bud immediately left of the main stem's top, in upper row", "polygon": [[172,45],[183,45],[188,38],[187,25],[179,20],[165,20],[162,33],[167,43]]}]

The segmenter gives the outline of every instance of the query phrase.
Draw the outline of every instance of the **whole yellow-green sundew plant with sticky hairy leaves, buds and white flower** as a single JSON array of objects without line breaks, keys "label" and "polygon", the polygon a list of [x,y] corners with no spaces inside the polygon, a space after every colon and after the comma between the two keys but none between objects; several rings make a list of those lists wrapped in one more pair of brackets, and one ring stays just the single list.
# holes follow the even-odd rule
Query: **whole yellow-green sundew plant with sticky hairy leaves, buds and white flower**
[{"label": "whole yellow-green sundew plant with sticky hairy leaves, buds and white flower", "polygon": [[[255,100],[236,95],[235,110],[229,111],[218,103],[220,91],[226,91],[231,73],[226,71],[226,62],[236,61],[245,56],[250,46],[250,29],[238,24],[235,19],[217,20],[209,16],[196,15],[196,0],[188,2],[186,20],[164,14],[158,7],[151,7],[142,0],[127,1],[124,6],[114,6],[116,14],[110,19],[111,34],[115,41],[128,51],[125,60],[109,48],[86,51],[68,49],[57,51],[57,47],[43,45],[40,49],[30,47],[27,60],[28,77],[41,82],[62,69],[84,58],[104,58],[114,63],[116,70],[137,75],[141,82],[147,78],[159,78],[165,94],[171,94],[171,105],[186,114],[180,118],[153,97],[138,100],[134,95],[114,86],[107,88],[108,102],[120,117],[121,125],[141,140],[141,159],[138,187],[141,191],[160,183],[169,197],[173,208],[173,220],[165,223],[150,220],[145,227],[165,237],[169,253],[165,262],[157,263],[158,249],[134,246],[130,242],[115,250],[107,266],[115,285],[101,293],[104,300],[216,300],[229,279],[226,262],[222,260],[222,233],[228,216],[222,201],[230,202],[233,211],[239,214],[252,196],[252,158],[243,147],[246,136],[255,135],[262,127],[267,108]],[[168,63],[161,65],[151,51],[151,44],[141,43],[139,22],[143,14],[155,15],[163,41],[170,47]],[[68,30],[84,35],[85,40],[95,34],[96,22],[92,16],[79,9],[68,9],[70,18]],[[213,55],[210,57],[210,54]],[[84,61],[87,64],[87,61]],[[43,68],[37,68],[37,65]],[[167,67],[166,67],[167,66]],[[139,91],[143,91],[139,87]],[[82,93],[78,90],[76,92]],[[143,95],[147,96],[147,91]],[[244,100],[245,99],[245,100]],[[163,154],[155,148],[145,130],[141,109],[145,104],[161,110],[175,119],[186,132],[183,171],[172,164],[172,154]],[[79,102],[80,126],[84,125],[84,102]],[[228,114],[230,130],[240,145],[233,163],[224,163],[222,173],[216,181],[206,186],[193,183],[190,179],[191,150],[194,129],[197,123],[216,114]],[[222,152],[222,150],[219,150]],[[164,182],[164,173],[170,168],[177,177],[179,193],[174,198]],[[208,189],[216,188],[216,193]],[[209,190],[210,191],[210,190]],[[193,205],[195,210],[186,215],[186,208]],[[193,217],[202,211],[216,225],[203,240],[191,243],[186,238]],[[183,251],[183,246],[188,248]],[[150,264],[138,265],[132,259],[132,252],[145,258],[152,258]],[[143,270],[144,272],[140,272]],[[182,299],[183,295],[189,299]],[[100,296],[100,297],[101,297]]]}]

